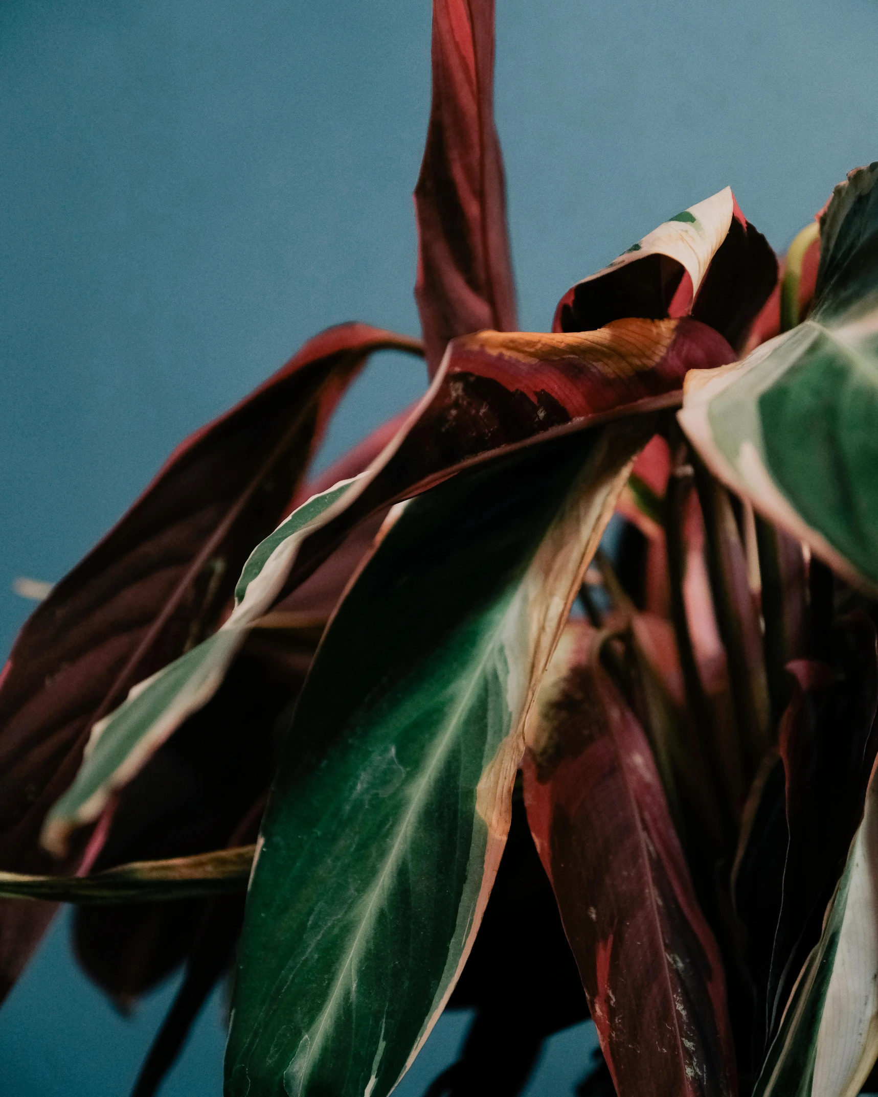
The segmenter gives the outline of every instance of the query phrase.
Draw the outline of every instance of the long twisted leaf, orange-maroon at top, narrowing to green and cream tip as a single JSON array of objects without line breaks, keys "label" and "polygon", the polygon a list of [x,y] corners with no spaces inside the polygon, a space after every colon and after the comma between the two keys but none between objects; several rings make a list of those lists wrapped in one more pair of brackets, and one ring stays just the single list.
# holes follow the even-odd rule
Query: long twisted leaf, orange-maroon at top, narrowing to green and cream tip
[{"label": "long twisted leaf, orange-maroon at top, narrowing to green and cream tip", "polygon": [[596,421],[589,411],[599,416],[620,399],[673,391],[687,366],[727,352],[720,336],[688,319],[624,320],[574,335],[483,331],[454,340],[430,391],[373,464],[314,496],[252,551],[223,627],[136,687],[95,726],[93,748],[47,816],[46,848],[63,853],[74,828],[95,818],[111,793],[210,700],[248,631],[358,522],[468,461],[526,444],[553,426],[583,429]]}]

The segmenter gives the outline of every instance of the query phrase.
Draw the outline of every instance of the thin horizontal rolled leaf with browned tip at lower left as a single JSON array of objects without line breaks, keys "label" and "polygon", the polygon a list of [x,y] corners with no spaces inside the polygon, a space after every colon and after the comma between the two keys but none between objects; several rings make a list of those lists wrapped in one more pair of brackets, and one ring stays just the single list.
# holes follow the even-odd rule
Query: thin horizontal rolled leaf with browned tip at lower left
[{"label": "thin horizontal rolled leaf with browned tip at lower left", "polygon": [[154,903],[243,891],[255,846],[165,861],[134,861],[86,877],[0,872],[0,895],[54,903]]}]

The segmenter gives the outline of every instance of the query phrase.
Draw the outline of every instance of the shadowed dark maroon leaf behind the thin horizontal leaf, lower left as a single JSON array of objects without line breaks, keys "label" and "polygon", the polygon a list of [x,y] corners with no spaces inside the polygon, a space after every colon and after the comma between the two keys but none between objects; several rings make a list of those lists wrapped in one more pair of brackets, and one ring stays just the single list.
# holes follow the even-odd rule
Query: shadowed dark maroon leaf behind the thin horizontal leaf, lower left
[{"label": "shadowed dark maroon leaf behind the thin horizontal leaf, lower left", "polygon": [[[230,844],[252,804],[264,801],[282,717],[312,657],[312,649],[288,652],[284,666],[279,648],[267,656],[248,645],[216,697],[123,790],[94,871]],[[77,958],[115,1002],[131,1005],[185,958],[204,908],[199,900],[79,907]]]}]

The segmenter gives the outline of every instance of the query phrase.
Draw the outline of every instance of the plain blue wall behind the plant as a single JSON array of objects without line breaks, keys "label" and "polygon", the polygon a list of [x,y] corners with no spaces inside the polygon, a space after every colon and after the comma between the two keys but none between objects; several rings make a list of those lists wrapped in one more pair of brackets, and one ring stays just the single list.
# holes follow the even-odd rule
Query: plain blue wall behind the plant
[{"label": "plain blue wall behind the plant", "polygon": [[[731,184],[779,249],[878,157],[874,0],[498,0],[496,110],[525,328]],[[191,430],[318,329],[416,333],[427,0],[0,5],[0,648]],[[424,387],[375,360],[323,462]],[[4,1092],[123,1095],[173,987],[116,1016],[59,919],[0,1011]],[[216,1095],[222,995],[169,1079]],[[425,1049],[417,1097],[465,1028]],[[592,1037],[531,1086],[572,1089]],[[414,1072],[413,1072],[414,1073]]]}]

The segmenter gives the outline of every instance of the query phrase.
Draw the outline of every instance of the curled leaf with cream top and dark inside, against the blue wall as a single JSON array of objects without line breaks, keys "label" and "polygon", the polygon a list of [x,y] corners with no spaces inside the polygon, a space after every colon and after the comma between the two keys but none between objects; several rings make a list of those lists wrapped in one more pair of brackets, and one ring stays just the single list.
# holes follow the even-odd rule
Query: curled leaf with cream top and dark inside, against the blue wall
[{"label": "curled leaf with cream top and dark inside, against the blue wall", "polygon": [[622,316],[691,314],[739,348],[776,281],[774,251],[727,186],[577,282],[559,302],[554,330],[589,330]]}]

